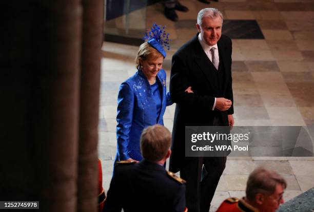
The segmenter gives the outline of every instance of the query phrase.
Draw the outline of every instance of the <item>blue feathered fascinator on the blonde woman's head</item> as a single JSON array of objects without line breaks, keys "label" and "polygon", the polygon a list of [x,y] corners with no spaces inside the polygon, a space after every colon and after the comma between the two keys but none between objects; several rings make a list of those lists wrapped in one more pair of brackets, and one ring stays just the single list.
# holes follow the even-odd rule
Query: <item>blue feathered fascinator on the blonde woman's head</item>
[{"label": "blue feathered fascinator on the blonde woman's head", "polygon": [[164,48],[170,50],[169,33],[165,31],[166,26],[153,24],[151,30],[145,33],[143,39],[147,39],[147,43],[159,51],[164,57],[167,56]]}]

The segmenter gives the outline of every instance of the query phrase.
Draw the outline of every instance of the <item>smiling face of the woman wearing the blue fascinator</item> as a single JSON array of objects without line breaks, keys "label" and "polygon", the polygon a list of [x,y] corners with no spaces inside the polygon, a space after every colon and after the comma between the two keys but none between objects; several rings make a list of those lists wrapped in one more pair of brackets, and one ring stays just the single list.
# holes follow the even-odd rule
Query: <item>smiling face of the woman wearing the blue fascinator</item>
[{"label": "smiling face of the woman wearing the blue fascinator", "polygon": [[150,54],[145,60],[141,60],[141,65],[143,66],[142,71],[147,79],[152,79],[156,77],[158,72],[163,67],[164,57]]}]

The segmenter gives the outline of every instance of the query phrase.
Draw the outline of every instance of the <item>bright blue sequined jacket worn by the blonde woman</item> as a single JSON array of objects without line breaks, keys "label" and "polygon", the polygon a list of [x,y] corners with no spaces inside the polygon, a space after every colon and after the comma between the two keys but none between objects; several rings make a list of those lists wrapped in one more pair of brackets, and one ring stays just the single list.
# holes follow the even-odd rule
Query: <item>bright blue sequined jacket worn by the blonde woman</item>
[{"label": "bright blue sequined jacket worn by the blonde woman", "polygon": [[[160,70],[156,80],[162,84],[162,109],[157,121],[164,124],[163,115],[166,106],[171,105],[169,92],[166,91],[166,72]],[[115,160],[142,160],[140,137],[147,126],[156,124],[156,104],[153,92],[143,72],[138,70],[133,76],[124,81],[117,99],[117,154]]]}]

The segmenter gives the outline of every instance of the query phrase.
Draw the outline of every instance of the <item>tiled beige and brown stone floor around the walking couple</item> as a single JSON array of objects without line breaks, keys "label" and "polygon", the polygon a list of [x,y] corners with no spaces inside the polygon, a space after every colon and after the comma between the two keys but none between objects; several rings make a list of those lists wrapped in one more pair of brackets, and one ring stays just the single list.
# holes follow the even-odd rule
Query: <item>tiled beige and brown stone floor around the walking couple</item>
[{"label": "tiled beige and brown stone floor around the walking couple", "polygon": [[[180,2],[189,12],[178,12],[177,23],[163,16],[160,4],[130,14],[135,18],[131,25],[144,22],[149,28],[156,22],[167,26],[172,38],[171,50],[164,60],[167,80],[172,54],[197,32],[197,13],[206,7],[197,0]],[[221,10],[225,19],[256,20],[265,37],[232,39],[235,125],[304,125],[314,138],[314,1],[220,0],[210,7]],[[138,13],[143,14],[144,10],[143,19]],[[111,22],[121,23],[121,19]],[[107,42],[103,45],[99,155],[105,190],[109,188],[116,151],[117,91],[120,83],[135,73],[137,50],[135,46]],[[164,115],[170,131],[174,107],[167,107]],[[215,211],[227,197],[244,196],[248,174],[259,165],[275,169],[287,179],[285,200],[314,187],[314,158],[229,158],[210,211]]]}]

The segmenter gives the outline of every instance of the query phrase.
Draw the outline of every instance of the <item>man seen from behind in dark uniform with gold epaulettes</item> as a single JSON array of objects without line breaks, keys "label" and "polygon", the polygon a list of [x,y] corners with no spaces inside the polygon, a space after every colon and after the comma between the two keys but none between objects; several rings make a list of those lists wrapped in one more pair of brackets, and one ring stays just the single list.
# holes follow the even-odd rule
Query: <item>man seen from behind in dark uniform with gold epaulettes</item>
[{"label": "man seen from behind in dark uniform with gold epaulettes", "polygon": [[180,211],[185,207],[185,181],[167,172],[164,163],[171,154],[171,134],[155,124],[141,135],[144,160],[117,162],[104,205],[104,212]]}]

